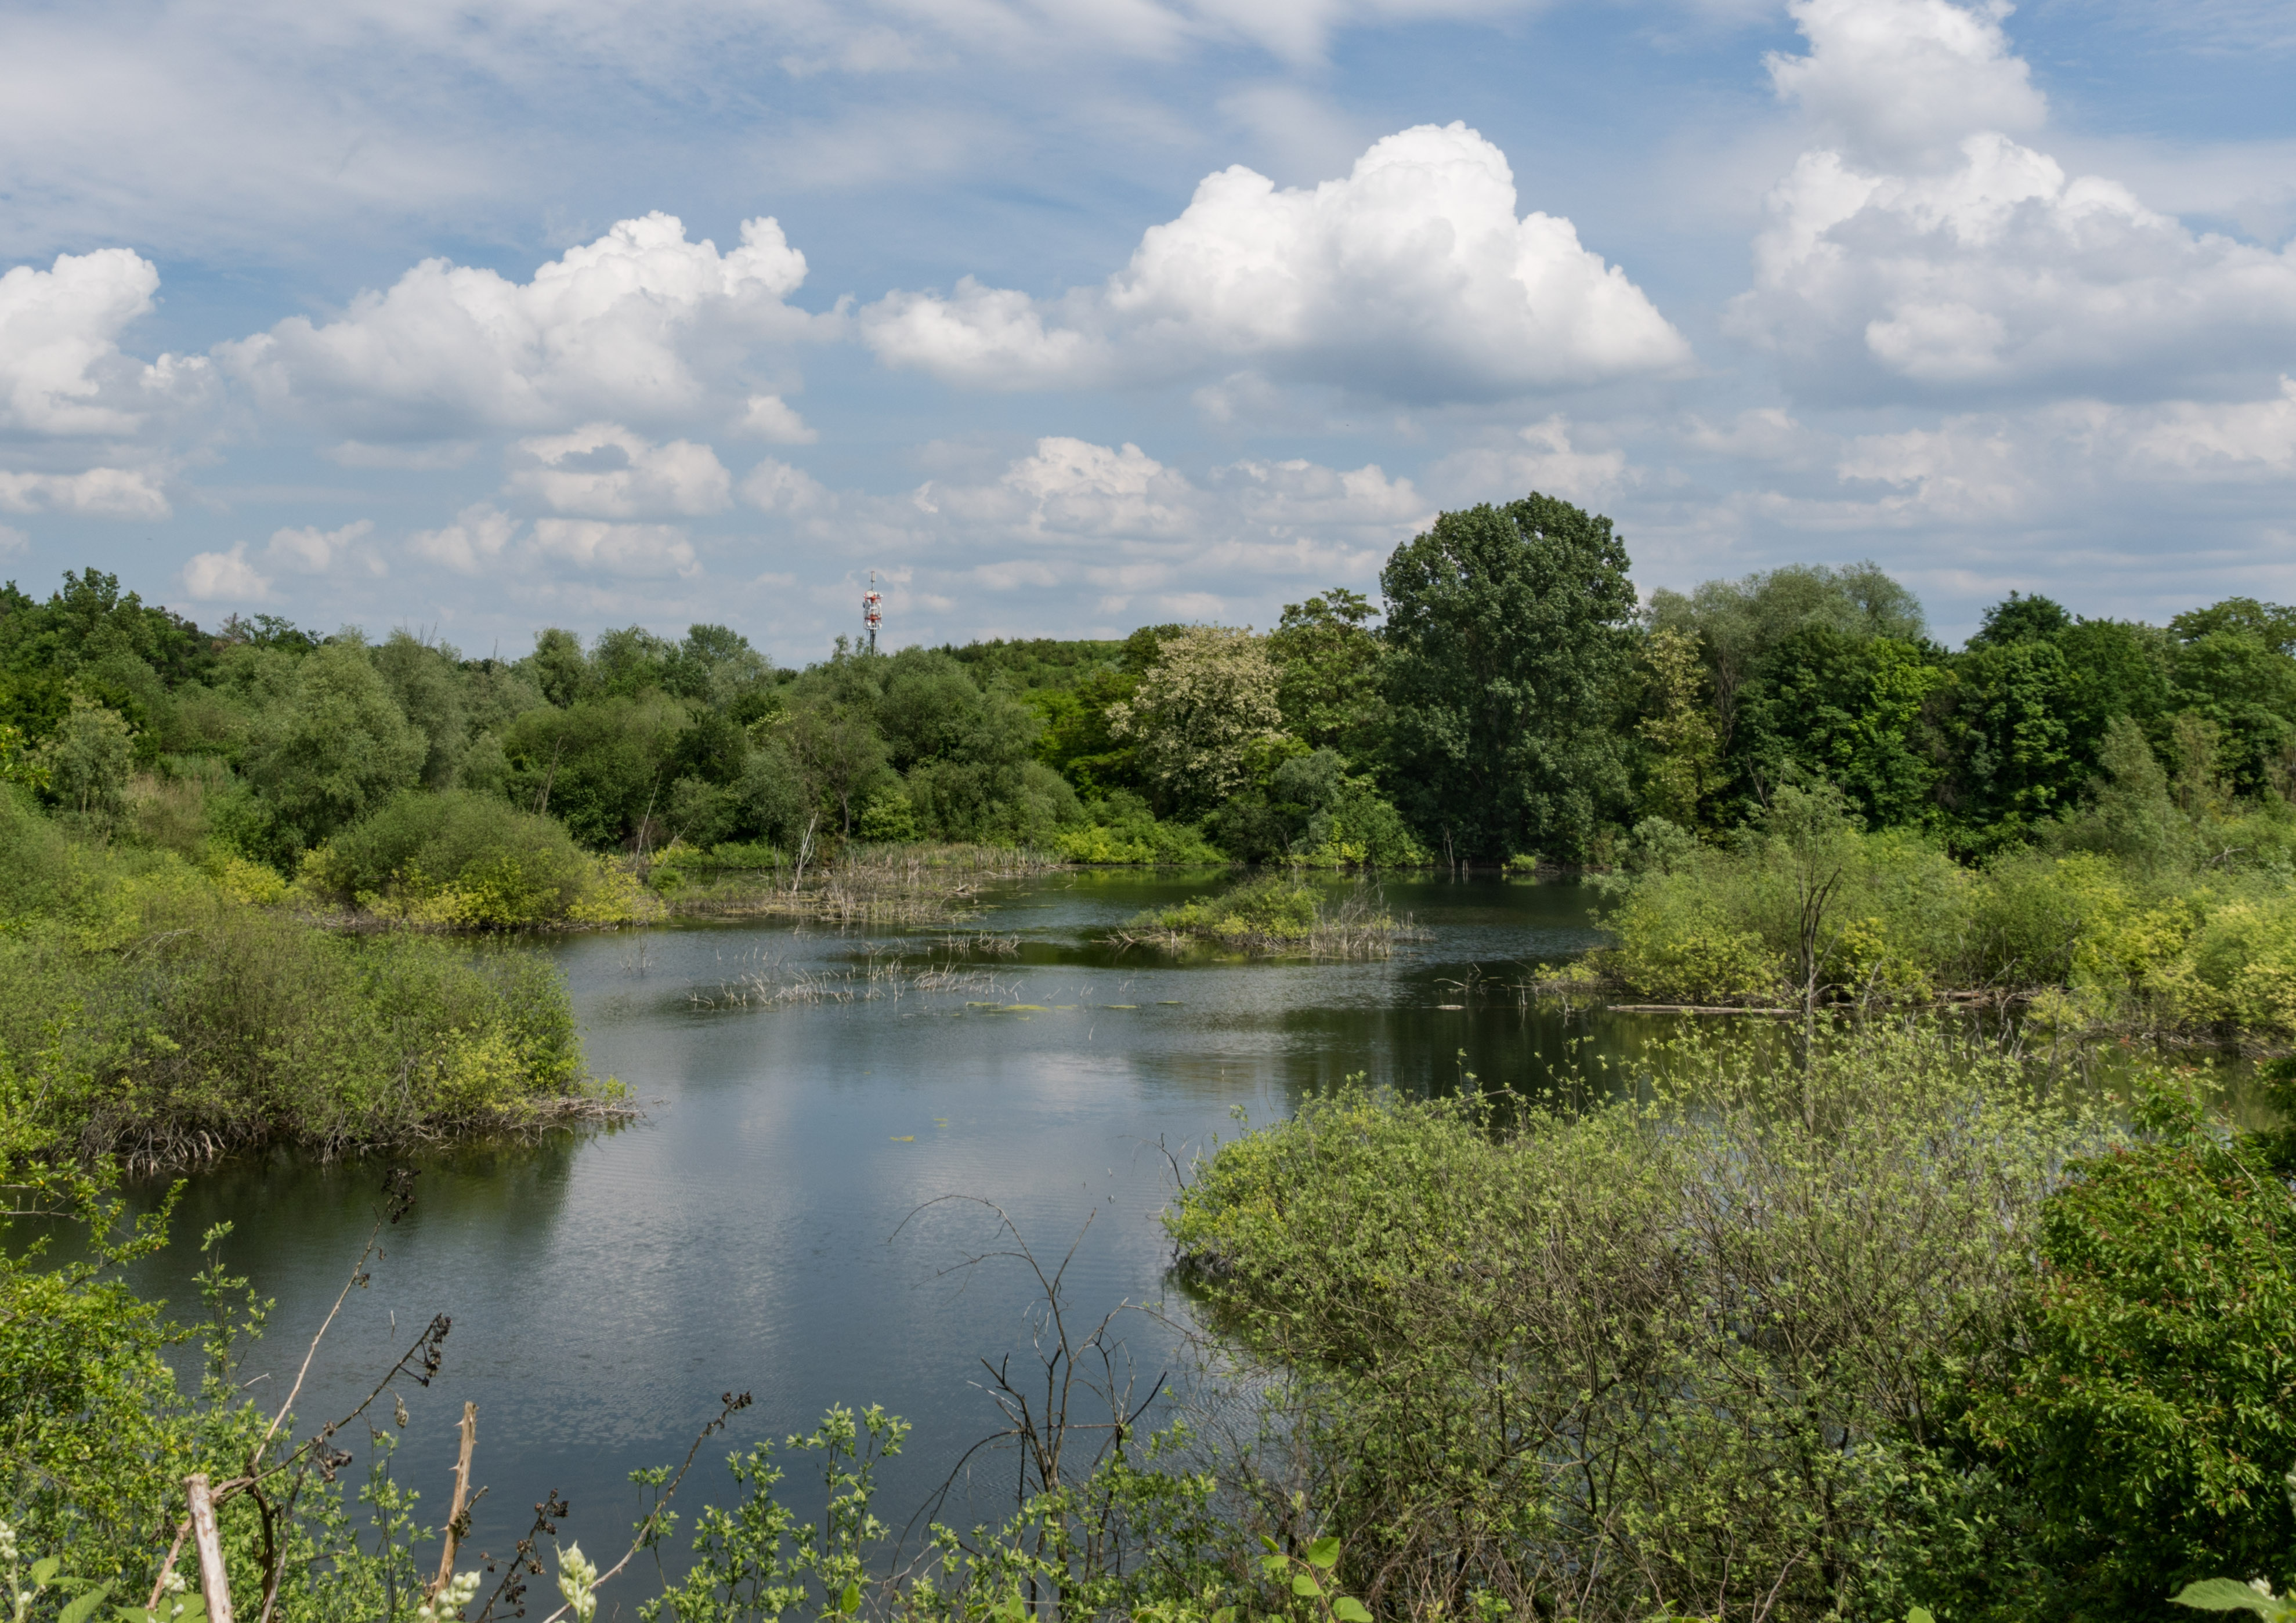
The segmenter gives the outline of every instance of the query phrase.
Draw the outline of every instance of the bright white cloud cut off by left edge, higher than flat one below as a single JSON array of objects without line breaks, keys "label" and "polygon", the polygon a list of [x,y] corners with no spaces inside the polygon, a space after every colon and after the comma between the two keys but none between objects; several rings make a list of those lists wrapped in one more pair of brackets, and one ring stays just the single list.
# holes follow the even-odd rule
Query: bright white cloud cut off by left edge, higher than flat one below
[{"label": "bright white cloud cut off by left edge, higher than flat one below", "polygon": [[129,248],[0,275],[0,429],[124,438],[154,409],[197,395],[211,374],[204,358],[145,363],[119,349],[156,292],[158,266]]}]

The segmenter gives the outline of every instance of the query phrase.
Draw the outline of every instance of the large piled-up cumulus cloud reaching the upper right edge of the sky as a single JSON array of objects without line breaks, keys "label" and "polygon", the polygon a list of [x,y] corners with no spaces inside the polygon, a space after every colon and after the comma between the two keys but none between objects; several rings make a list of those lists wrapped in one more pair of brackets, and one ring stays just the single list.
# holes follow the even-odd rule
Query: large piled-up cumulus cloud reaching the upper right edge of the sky
[{"label": "large piled-up cumulus cloud reaching the upper right edge of the sky", "polygon": [[[1876,129],[1919,124],[1919,140],[1862,140],[1883,158],[1871,165],[1807,152],[1770,195],[1729,328],[1775,349],[1798,388],[2161,397],[2225,390],[2296,344],[2296,243],[2193,232],[1984,122],[2041,117],[2037,96],[2011,94],[2025,64],[2007,55],[2002,9],[1807,0],[1795,16],[1812,55],[1777,67],[1782,90],[1830,85]],[[1915,64],[1903,80],[1892,48]],[[1970,94],[1936,87],[1963,83],[1954,62]]]}]

